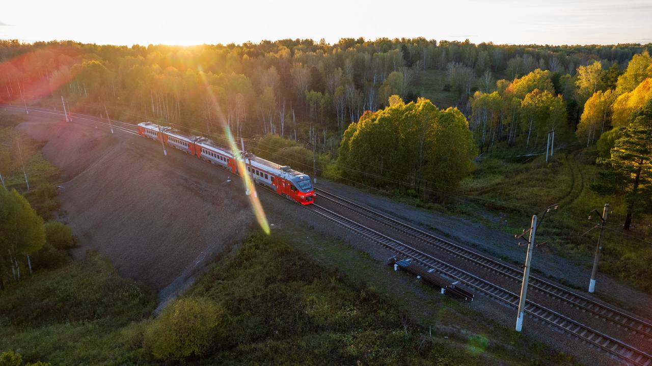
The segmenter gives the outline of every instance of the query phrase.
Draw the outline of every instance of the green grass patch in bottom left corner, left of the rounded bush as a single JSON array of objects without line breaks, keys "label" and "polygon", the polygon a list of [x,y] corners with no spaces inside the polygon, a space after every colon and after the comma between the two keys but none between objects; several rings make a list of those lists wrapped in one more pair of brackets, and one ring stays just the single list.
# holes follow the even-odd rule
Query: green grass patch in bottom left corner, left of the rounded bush
[{"label": "green grass patch in bottom left corner, left of the rounded bush", "polygon": [[140,363],[142,352],[128,347],[121,329],[156,305],[150,290],[119,277],[96,254],[25,275],[0,298],[0,350],[53,365]]}]

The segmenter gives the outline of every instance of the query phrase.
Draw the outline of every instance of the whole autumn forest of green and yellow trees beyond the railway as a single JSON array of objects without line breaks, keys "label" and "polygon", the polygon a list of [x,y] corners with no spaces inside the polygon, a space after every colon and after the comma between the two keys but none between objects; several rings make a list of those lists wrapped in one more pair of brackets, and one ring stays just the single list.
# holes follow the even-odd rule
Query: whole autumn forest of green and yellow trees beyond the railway
[{"label": "whole autumn forest of green and yellow trees beyond the railway", "polygon": [[[72,111],[217,138],[228,128],[265,158],[310,171],[316,150],[317,175],[432,199],[457,191],[471,161],[488,152],[540,154],[550,142],[581,143],[597,145],[610,165],[615,142],[650,98],[648,47],[425,38],[190,47],[0,41],[0,101],[60,109],[63,96]],[[649,163],[637,164],[632,182],[617,168],[604,173],[613,184],[596,189],[647,194]],[[455,173],[439,174],[444,167]]]}]

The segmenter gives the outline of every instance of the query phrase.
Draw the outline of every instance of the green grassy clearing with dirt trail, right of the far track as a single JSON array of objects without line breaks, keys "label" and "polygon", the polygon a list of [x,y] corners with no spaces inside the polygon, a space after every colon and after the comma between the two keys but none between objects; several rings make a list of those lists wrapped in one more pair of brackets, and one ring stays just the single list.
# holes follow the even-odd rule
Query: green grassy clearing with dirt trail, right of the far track
[{"label": "green grassy clearing with dirt trail, right of the far track", "polygon": [[[645,231],[651,219],[637,218],[635,223],[640,229],[633,232],[620,229],[627,212],[623,197],[600,195],[590,189],[603,169],[595,165],[596,154],[595,148],[572,147],[557,152],[548,165],[544,156],[518,163],[490,155],[479,163],[473,176],[462,182],[460,193],[470,198],[460,208],[488,227],[516,233],[529,227],[531,215],[541,214],[541,207],[558,203],[559,208],[548,213],[537,234],[541,241],[549,240],[548,247],[557,254],[589,266],[598,230],[582,234],[598,221],[595,214],[593,221],[587,218],[592,210],[601,213],[604,203],[610,203],[610,229],[605,231],[600,271],[652,293],[652,235]],[[486,209],[501,214],[509,226],[477,214]]]}]

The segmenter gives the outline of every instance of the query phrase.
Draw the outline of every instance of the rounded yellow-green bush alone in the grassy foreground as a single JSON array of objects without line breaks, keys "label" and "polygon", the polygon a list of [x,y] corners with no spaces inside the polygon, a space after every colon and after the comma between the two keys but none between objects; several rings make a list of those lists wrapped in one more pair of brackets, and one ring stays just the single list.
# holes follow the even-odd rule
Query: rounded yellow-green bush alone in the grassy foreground
[{"label": "rounded yellow-green bush alone in the grassy foreground", "polygon": [[145,330],[143,345],[157,359],[184,359],[201,355],[218,335],[226,311],[205,298],[182,298]]}]

